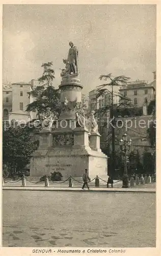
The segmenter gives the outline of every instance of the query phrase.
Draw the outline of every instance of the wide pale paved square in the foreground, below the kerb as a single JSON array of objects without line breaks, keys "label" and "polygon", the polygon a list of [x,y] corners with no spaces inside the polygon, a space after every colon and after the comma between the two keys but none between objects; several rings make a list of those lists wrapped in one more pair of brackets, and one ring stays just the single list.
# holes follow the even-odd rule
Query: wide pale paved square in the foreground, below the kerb
[{"label": "wide pale paved square in the foreground, below the kerb", "polygon": [[155,194],[5,190],[3,246],[155,247]]}]

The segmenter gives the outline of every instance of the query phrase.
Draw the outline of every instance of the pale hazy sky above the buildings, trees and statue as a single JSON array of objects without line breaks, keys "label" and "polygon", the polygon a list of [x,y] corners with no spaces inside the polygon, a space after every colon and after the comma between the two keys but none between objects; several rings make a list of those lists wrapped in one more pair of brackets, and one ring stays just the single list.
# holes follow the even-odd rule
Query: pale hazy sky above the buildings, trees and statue
[{"label": "pale hazy sky above the buildings, trees and statue", "polygon": [[29,82],[52,61],[58,88],[69,41],[78,47],[83,93],[112,73],[153,80],[155,5],[4,5],[3,82]]}]

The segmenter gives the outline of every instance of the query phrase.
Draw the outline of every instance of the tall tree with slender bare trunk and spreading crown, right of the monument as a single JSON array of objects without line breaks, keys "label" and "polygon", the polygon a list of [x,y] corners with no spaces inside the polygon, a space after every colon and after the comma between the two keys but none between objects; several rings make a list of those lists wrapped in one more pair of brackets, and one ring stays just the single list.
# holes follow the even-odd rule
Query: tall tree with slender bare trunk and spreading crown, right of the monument
[{"label": "tall tree with slender bare trunk and spreading crown, right of the monument", "polygon": [[[119,93],[114,91],[115,87],[123,86],[127,84],[130,77],[126,77],[124,75],[113,77],[112,74],[108,75],[100,75],[100,80],[105,80],[107,83],[103,83],[100,86],[97,87],[97,94],[96,94],[96,100],[99,97],[104,96],[105,94],[110,94],[110,104],[107,104],[104,108],[101,108],[99,111],[102,113],[106,113],[108,110],[110,110],[110,118],[112,119],[111,122],[111,134],[112,134],[112,168],[111,168],[111,176],[115,176],[115,112],[118,108],[121,106],[128,106],[131,105],[130,99],[126,96],[122,96]],[[108,87],[111,88],[111,90],[108,89]],[[114,96],[118,96],[120,98],[120,103],[115,104],[114,103]]]}]

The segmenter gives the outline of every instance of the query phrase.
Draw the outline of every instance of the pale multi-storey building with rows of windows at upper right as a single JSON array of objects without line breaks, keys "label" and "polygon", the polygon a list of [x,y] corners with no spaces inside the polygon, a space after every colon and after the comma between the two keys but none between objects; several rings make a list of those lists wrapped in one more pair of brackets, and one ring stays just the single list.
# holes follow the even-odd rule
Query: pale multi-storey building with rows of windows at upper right
[{"label": "pale multi-storey building with rows of windows at upper right", "polygon": [[153,84],[148,84],[145,80],[130,82],[119,91],[122,96],[126,96],[131,100],[132,105],[138,107],[144,104],[148,105],[149,102],[155,98],[155,88]]}]

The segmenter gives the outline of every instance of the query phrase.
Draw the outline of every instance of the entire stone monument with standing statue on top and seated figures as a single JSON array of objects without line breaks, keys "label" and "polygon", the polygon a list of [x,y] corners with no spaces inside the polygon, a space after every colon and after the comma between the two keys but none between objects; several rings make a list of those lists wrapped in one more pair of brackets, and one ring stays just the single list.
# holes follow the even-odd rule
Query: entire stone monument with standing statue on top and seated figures
[{"label": "entire stone monument with standing statue on top and seated figures", "polygon": [[[61,72],[61,114],[52,127],[52,113],[47,109],[45,122],[39,132],[39,148],[31,158],[31,176],[41,177],[60,172],[63,180],[72,176],[81,179],[84,169],[89,170],[91,179],[108,175],[108,157],[100,150],[100,134],[94,111],[87,117],[83,110],[79,79],[78,49],[69,42],[65,69]],[[44,122],[44,123],[45,123]]]}]

